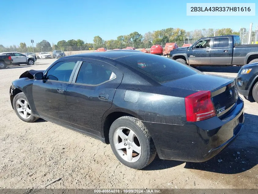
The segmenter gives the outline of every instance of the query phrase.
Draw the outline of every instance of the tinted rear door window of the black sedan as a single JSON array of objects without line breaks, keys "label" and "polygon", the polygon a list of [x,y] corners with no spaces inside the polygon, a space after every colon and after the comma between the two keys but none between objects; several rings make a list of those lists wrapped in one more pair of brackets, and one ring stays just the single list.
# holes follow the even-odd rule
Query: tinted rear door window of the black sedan
[{"label": "tinted rear door window of the black sedan", "polygon": [[83,62],[75,83],[98,85],[115,78],[115,74],[102,65]]}]

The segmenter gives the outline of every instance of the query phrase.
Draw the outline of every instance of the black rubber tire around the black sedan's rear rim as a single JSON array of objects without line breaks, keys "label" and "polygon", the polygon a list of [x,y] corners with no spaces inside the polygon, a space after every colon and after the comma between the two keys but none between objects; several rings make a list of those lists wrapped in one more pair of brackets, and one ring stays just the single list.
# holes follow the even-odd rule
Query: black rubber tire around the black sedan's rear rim
[{"label": "black rubber tire around the black sedan's rear rim", "polygon": [[[119,127],[128,127],[137,135],[137,138],[139,139],[141,150],[144,150],[144,152],[141,153],[140,158],[136,162],[126,161],[118,154],[118,151],[115,148],[114,133]],[[109,131],[109,142],[111,149],[118,160],[122,164],[133,169],[142,169],[146,167],[154,160],[157,154],[149,131],[139,119],[132,116],[122,116],[112,123]]]}]

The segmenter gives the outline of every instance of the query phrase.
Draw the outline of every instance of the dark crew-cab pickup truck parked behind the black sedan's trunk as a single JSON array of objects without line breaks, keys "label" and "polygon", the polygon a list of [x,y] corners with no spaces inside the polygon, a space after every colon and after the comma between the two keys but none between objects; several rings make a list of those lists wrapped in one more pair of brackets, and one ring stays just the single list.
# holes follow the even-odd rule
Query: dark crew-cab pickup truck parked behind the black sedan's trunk
[{"label": "dark crew-cab pickup truck parked behind the black sedan's trunk", "polygon": [[242,66],[258,60],[258,44],[241,45],[236,35],[201,38],[191,47],[170,51],[169,57],[193,67]]}]

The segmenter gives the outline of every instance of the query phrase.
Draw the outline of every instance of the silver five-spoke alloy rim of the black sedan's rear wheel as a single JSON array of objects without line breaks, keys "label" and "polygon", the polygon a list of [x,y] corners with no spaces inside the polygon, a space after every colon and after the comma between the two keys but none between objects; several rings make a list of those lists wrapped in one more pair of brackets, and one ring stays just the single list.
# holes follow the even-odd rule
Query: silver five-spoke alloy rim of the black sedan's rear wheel
[{"label": "silver five-spoke alloy rim of the black sedan's rear wheel", "polygon": [[118,154],[127,162],[139,160],[142,152],[139,138],[128,127],[119,127],[114,133],[114,146]]}]

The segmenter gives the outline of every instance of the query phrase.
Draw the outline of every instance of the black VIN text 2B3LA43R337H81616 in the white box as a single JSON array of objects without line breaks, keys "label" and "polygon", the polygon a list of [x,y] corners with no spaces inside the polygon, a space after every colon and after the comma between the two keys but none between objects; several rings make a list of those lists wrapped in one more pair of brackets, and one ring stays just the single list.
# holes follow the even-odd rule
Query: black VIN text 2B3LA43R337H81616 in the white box
[{"label": "black VIN text 2B3LA43R337H81616 in the white box", "polygon": [[214,12],[214,11],[251,11],[250,7],[191,7],[191,12]]}]

